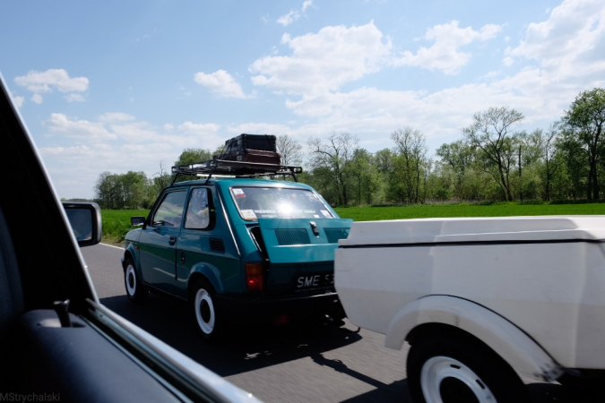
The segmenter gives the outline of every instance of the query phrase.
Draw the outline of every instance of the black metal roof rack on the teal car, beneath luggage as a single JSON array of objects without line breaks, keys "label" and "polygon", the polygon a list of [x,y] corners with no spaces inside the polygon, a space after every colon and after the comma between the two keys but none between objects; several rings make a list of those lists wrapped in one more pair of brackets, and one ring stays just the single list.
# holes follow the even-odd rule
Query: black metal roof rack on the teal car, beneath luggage
[{"label": "black metal roof rack on the teal car, beneath luggage", "polygon": [[210,181],[213,174],[235,177],[292,176],[298,182],[296,174],[302,173],[302,167],[227,159],[209,159],[207,161],[194,162],[193,164],[174,166],[172,167],[172,173],[174,177],[171,184],[175,184],[179,175],[197,176],[204,174],[208,176],[206,183]]}]

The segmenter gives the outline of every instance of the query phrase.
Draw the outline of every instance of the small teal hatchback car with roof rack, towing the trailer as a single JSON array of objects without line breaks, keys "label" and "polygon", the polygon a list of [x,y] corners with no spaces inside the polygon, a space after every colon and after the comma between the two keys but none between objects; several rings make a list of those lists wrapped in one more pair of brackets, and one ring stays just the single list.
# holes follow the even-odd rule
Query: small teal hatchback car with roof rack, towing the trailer
[{"label": "small teal hatchback car with roof rack, towing the trailer", "polygon": [[147,219],[132,219],[143,227],[125,237],[127,296],[142,302],[151,290],[188,301],[204,339],[233,323],[340,322],[333,259],[351,220],[306,184],[255,177],[299,171],[220,159],[173,167],[175,179],[206,177],[171,184]]}]

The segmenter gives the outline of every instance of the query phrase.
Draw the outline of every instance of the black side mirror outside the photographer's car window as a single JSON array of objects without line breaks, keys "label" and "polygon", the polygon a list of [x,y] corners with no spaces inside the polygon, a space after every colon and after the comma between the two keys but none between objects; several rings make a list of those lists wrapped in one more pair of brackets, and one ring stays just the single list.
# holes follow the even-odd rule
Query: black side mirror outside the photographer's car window
[{"label": "black side mirror outside the photographer's car window", "polygon": [[78,244],[80,246],[99,244],[102,233],[99,204],[64,201],[63,208]]}]

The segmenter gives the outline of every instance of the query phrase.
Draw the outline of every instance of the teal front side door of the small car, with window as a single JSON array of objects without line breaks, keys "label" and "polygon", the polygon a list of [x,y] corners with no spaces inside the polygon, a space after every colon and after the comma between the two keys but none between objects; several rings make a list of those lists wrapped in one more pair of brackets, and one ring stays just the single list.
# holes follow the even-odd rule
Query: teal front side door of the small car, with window
[{"label": "teal front side door of the small car, with window", "polygon": [[143,281],[171,294],[177,291],[177,240],[186,195],[186,188],[164,193],[149,224],[142,230],[139,243]]}]

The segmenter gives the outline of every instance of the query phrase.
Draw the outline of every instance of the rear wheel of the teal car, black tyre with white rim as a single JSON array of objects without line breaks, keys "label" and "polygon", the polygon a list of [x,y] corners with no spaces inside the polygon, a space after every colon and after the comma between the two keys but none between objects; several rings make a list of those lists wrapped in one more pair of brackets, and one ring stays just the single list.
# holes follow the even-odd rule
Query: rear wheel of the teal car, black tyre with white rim
[{"label": "rear wheel of the teal car, black tyre with white rim", "polygon": [[224,333],[225,324],[220,315],[216,300],[216,291],[210,282],[199,279],[191,288],[191,311],[194,324],[202,338],[208,341],[217,341]]}]

